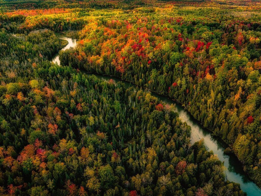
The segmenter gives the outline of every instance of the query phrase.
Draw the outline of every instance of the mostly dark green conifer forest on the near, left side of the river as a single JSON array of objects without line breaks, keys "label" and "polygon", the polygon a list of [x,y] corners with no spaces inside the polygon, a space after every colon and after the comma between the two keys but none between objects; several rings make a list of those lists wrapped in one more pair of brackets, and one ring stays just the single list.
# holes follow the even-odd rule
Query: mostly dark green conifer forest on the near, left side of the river
[{"label": "mostly dark green conifer forest on the near, left side of the river", "polygon": [[51,63],[50,31],[20,36],[0,36],[1,195],[244,195],[173,105]]}]

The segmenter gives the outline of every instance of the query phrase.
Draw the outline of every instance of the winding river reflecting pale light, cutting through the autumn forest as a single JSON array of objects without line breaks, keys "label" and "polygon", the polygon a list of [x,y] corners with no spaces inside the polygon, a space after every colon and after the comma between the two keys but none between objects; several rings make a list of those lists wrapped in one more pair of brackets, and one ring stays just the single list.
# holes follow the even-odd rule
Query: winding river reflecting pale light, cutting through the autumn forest
[{"label": "winding river reflecting pale light, cutting through the autumn forest", "polygon": [[[66,50],[70,47],[76,46],[76,40],[68,37],[64,37],[62,33],[55,33],[56,36],[58,36],[61,39],[67,40],[69,43],[66,47],[62,48],[62,50]],[[59,53],[55,53],[51,59],[52,62],[57,62],[58,65],[60,65],[59,60]],[[85,74],[92,75],[90,73],[87,73],[84,70],[81,70]],[[93,74],[97,76],[99,79],[102,80],[109,80],[113,79],[116,82],[122,81],[116,77],[110,77],[110,76],[103,76],[99,74]],[[126,87],[133,86],[133,84],[129,82],[122,81]],[[226,149],[226,144],[218,140],[218,138],[213,137],[211,133],[203,128],[197,120],[195,120],[191,114],[189,114],[182,106],[181,104],[175,102],[174,100],[171,100],[167,97],[160,96],[156,93],[152,93],[153,96],[161,99],[165,103],[169,104],[175,104],[175,110],[179,114],[179,117],[182,121],[186,121],[189,126],[191,126],[191,143],[199,141],[200,139],[204,139],[205,145],[209,150],[212,150],[214,154],[218,156],[218,158],[221,161],[224,161],[224,166],[227,168],[225,170],[227,179],[229,181],[233,181],[236,183],[239,183],[241,186],[241,189],[247,193],[249,196],[261,196],[261,189],[252,182],[248,176],[244,173],[243,168],[239,160],[236,158],[235,155],[227,155],[224,154],[224,150]]]}]

